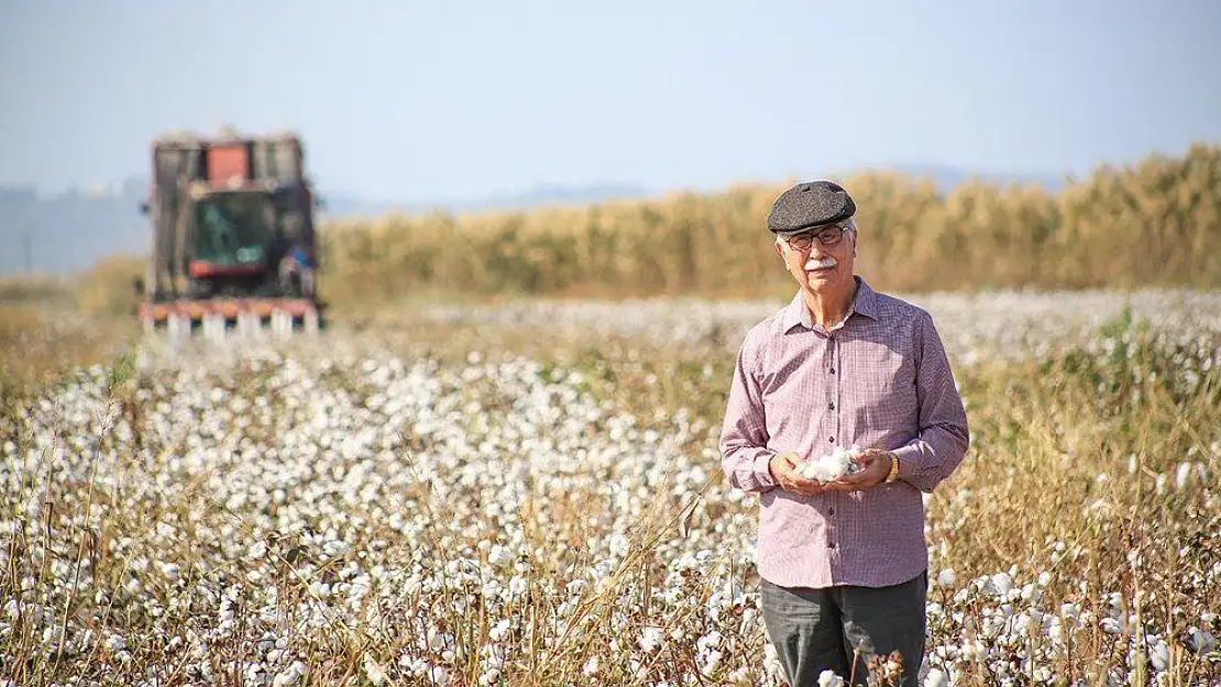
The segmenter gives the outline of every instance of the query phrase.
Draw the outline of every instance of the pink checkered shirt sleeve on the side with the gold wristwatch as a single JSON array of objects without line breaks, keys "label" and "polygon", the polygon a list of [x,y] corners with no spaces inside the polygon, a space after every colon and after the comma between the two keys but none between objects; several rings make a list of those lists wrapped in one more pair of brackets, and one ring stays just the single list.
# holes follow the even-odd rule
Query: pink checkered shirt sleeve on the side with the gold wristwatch
[{"label": "pink checkered shirt sleeve on the side with the gold wristwatch", "polygon": [[932,493],[962,462],[969,445],[967,412],[937,326],[923,312],[916,327],[919,434],[895,449],[899,478]]}]

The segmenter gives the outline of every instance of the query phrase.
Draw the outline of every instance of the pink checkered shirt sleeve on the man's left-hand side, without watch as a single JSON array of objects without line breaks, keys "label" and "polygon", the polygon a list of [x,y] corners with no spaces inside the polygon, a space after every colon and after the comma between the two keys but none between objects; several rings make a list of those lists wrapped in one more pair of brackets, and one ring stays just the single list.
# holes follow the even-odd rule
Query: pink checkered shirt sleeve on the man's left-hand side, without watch
[{"label": "pink checkered shirt sleeve on the man's left-hand side, without watch", "polygon": [[767,422],[758,379],[752,373],[750,338],[737,351],[734,379],[720,430],[720,466],[729,483],[746,492],[767,492],[777,486],[768,462],[777,451],[768,448]]}]

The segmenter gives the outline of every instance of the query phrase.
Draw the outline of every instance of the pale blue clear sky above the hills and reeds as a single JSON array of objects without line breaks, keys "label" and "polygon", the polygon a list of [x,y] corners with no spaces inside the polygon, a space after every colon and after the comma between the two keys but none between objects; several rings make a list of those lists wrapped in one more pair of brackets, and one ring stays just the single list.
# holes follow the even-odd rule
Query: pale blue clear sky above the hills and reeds
[{"label": "pale blue clear sky above the hills and reeds", "polygon": [[1221,1],[0,0],[0,183],[291,127],[328,193],[1083,174],[1221,140]]}]

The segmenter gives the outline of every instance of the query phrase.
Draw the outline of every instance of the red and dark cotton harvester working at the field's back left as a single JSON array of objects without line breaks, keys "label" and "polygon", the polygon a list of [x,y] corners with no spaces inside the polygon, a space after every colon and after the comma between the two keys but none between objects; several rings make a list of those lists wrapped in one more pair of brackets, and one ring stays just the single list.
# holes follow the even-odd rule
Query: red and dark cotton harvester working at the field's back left
[{"label": "red and dark cotton harvester working at the field's back left", "polygon": [[153,225],[148,272],[136,284],[145,331],[316,331],[316,205],[295,134],[159,138],[140,207]]}]

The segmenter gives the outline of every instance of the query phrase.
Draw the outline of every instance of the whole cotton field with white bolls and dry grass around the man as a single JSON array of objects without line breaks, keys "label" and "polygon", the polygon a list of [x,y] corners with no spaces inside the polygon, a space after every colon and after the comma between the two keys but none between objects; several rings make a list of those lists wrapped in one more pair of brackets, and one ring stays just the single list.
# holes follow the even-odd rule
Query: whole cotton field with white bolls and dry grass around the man
[{"label": "whole cotton field with white bolls and dry grass around the man", "polygon": [[[923,683],[1221,685],[1221,297],[922,304],[973,432],[926,498]],[[716,450],[778,305],[435,310],[33,389],[0,683],[779,685]]]}]

